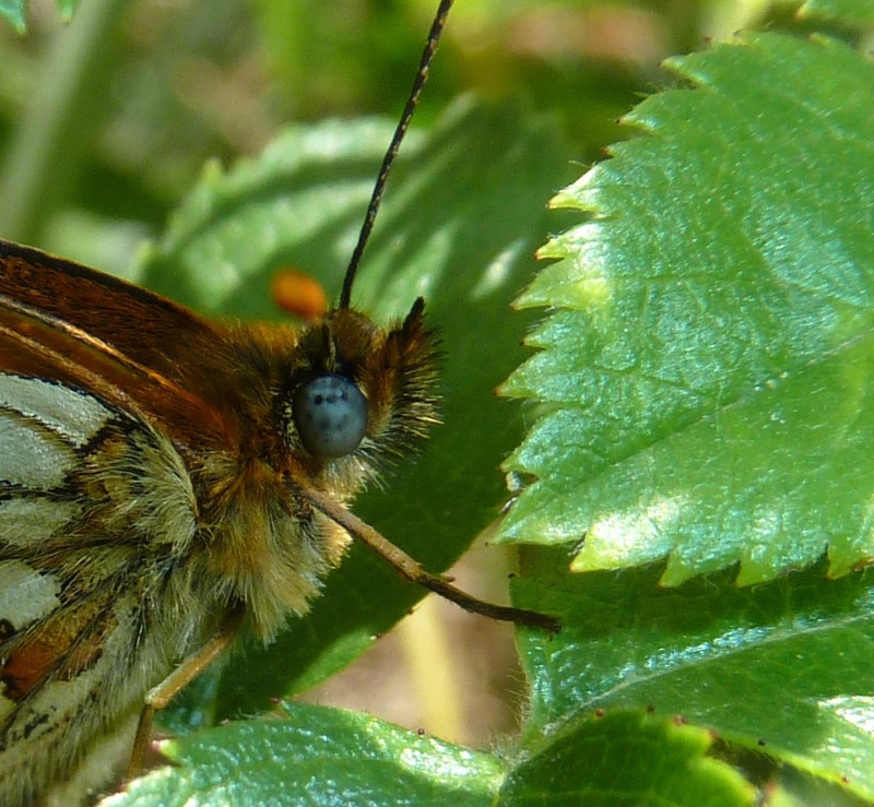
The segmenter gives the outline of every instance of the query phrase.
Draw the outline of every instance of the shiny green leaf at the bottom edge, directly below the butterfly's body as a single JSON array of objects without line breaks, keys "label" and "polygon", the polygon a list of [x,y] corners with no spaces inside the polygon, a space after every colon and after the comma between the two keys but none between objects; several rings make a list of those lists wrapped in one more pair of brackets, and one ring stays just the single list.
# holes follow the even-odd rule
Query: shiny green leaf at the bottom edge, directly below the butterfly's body
[{"label": "shiny green leaf at the bottom edge, directly below the butterfly's body", "polygon": [[281,714],[162,744],[176,763],[103,807],[198,804],[408,804],[486,807],[495,757],[418,736],[365,714],[285,704]]}]

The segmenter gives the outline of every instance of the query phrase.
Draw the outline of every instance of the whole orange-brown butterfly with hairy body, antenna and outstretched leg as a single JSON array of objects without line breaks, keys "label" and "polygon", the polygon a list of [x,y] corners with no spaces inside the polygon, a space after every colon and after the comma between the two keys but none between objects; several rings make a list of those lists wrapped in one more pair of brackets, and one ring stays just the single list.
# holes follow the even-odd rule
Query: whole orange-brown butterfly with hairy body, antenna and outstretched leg
[{"label": "whole orange-brown butterfly with hairy body, antenna and outstretched leg", "polygon": [[[463,607],[347,509],[438,422],[422,299],[383,328],[355,272],[451,1],[389,146],[340,300],[305,328],[223,324],[0,241],[0,804],[67,783],[245,621],[270,643],[352,539]],[[196,360],[192,360],[196,357]]]}]

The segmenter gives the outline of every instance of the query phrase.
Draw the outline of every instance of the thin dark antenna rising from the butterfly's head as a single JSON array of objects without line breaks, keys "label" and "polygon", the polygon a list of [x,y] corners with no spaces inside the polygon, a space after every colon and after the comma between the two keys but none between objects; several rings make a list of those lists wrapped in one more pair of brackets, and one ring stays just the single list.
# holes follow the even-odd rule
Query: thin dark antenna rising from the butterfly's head
[{"label": "thin dark antenna rising from the butterfly's head", "polygon": [[425,43],[425,49],[422,51],[422,59],[418,62],[418,71],[416,78],[413,80],[413,88],[410,91],[410,97],[406,99],[406,106],[403,108],[401,119],[398,121],[398,128],[389,143],[386,156],[382,157],[382,165],[379,168],[379,174],[376,178],[374,186],[374,193],[370,197],[370,203],[367,205],[367,213],[364,216],[364,224],[362,224],[362,232],[358,234],[358,242],[355,245],[355,250],[350,259],[349,266],[346,266],[346,275],[343,278],[343,290],[340,293],[340,308],[349,308],[352,298],[352,284],[355,282],[355,274],[358,271],[364,249],[370,238],[370,232],[374,229],[374,222],[376,214],[379,212],[379,203],[382,201],[382,191],[386,190],[386,180],[389,177],[394,157],[398,156],[398,150],[401,147],[403,135],[410,128],[410,121],[413,119],[413,112],[418,106],[418,99],[422,96],[422,88],[428,80],[428,70],[430,69],[430,61],[440,43],[440,35],[444,33],[446,26],[446,19],[449,16],[449,9],[452,8],[453,0],[440,0],[440,5],[437,13],[434,15],[434,22],[428,32],[428,39]]}]

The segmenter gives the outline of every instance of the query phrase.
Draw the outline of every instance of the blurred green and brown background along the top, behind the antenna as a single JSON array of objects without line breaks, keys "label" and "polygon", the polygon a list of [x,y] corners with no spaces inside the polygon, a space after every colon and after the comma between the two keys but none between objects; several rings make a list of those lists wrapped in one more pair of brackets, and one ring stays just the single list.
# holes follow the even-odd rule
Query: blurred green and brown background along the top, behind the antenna
[{"label": "blurred green and brown background along the top, behind the antenna", "polygon": [[[204,162],[290,121],[397,116],[434,0],[50,0],[0,21],[0,236],[121,270]],[[416,124],[462,92],[559,118],[581,163],[659,61],[792,5],[459,0]],[[60,146],[59,146],[60,144]]]}]

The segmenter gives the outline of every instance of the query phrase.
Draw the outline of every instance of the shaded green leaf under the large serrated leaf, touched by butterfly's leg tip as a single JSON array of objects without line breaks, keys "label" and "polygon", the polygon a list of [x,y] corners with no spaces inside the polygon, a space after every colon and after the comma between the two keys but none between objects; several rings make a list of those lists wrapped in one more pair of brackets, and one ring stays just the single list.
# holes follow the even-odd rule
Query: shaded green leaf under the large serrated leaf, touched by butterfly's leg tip
[{"label": "shaded green leaf under the large serrated leaf, touched by butterfly's leg tip", "polygon": [[565,626],[521,638],[529,743],[597,709],[649,707],[874,798],[874,572],[660,589],[657,568],[568,575],[557,549],[525,558],[516,602]]}]

